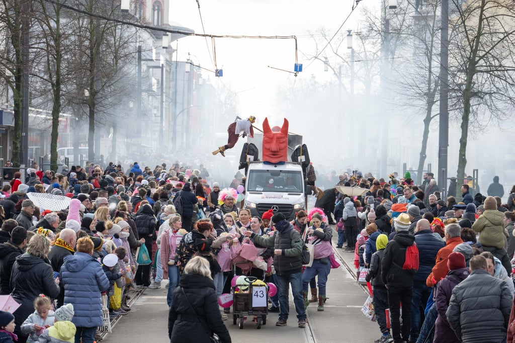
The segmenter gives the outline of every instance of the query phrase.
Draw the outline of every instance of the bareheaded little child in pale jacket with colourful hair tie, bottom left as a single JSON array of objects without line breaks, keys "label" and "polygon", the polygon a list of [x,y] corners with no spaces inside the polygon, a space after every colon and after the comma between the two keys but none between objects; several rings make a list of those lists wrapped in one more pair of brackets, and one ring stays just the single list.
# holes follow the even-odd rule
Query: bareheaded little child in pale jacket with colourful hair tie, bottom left
[{"label": "bareheaded little child in pale jacket with colourful hair tie, bottom left", "polygon": [[38,341],[38,337],[46,328],[54,325],[54,311],[52,301],[44,294],[40,294],[34,301],[34,313],[25,319],[20,330],[28,334],[27,343]]}]

